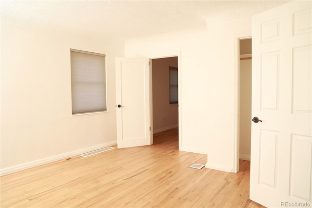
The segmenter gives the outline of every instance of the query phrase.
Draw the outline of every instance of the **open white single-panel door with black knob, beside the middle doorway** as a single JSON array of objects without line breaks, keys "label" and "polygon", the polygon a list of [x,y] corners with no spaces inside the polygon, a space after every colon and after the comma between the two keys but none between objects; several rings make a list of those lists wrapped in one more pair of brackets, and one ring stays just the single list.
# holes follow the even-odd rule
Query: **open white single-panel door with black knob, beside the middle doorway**
[{"label": "open white single-panel door with black knob, beside the middle doorway", "polygon": [[148,62],[116,58],[118,148],[151,145]]}]

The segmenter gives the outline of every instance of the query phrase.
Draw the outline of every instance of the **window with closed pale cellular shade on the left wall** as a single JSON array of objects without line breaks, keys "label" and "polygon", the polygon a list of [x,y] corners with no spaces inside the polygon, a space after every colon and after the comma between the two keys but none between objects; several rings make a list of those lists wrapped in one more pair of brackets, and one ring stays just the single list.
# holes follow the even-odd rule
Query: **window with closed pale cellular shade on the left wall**
[{"label": "window with closed pale cellular shade on the left wall", "polygon": [[106,111],[105,55],[71,49],[72,114]]}]

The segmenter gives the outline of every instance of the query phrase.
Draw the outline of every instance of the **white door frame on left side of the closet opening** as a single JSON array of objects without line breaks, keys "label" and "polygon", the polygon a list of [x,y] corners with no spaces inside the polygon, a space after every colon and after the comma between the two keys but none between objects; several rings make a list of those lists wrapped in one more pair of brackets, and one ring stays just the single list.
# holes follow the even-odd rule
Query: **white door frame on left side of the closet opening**
[{"label": "white door frame on left side of the closet opening", "polygon": [[249,33],[239,33],[234,36],[235,39],[235,80],[234,80],[234,144],[233,144],[233,167],[232,170],[234,173],[239,171],[239,99],[240,99],[240,87],[239,87],[239,70],[240,70],[240,40],[252,39],[251,32]]}]

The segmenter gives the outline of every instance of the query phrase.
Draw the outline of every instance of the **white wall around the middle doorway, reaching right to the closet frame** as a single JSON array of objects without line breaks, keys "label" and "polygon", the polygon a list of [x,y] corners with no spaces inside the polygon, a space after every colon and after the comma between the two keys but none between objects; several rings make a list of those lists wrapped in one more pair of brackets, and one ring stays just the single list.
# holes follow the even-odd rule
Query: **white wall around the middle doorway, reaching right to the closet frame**
[{"label": "white wall around the middle doorway, reaching right to the closet frame", "polygon": [[126,42],[125,55],[181,54],[180,150],[207,154],[206,167],[232,171],[235,137],[236,37],[251,35],[251,17],[208,23]]}]

